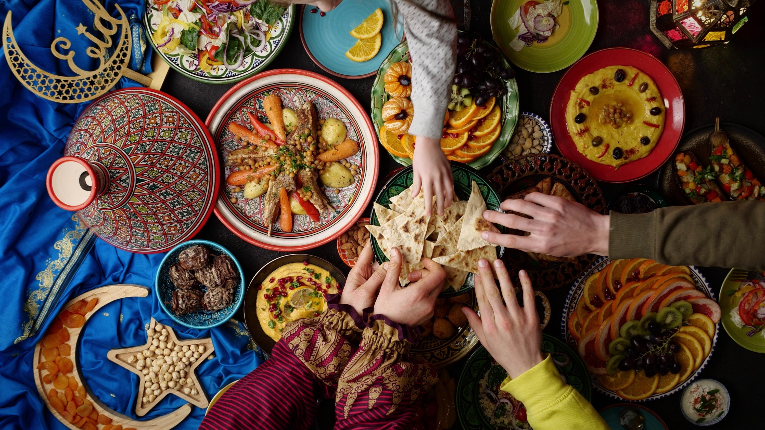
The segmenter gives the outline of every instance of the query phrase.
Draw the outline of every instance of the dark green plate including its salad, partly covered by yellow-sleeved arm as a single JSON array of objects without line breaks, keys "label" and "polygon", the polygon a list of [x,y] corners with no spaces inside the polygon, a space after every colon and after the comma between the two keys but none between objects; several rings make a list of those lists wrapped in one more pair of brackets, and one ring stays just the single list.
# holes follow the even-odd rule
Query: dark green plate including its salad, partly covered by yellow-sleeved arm
[{"label": "dark green plate including its salad, partly covered by yellow-sleeved arm", "polygon": [[[542,335],[542,352],[552,356],[563,380],[589,401],[592,388],[581,358],[550,335]],[[500,390],[506,377],[505,369],[482,346],[467,359],[456,393],[457,417],[462,428],[531,428],[526,419],[526,406],[512,394]]]}]

